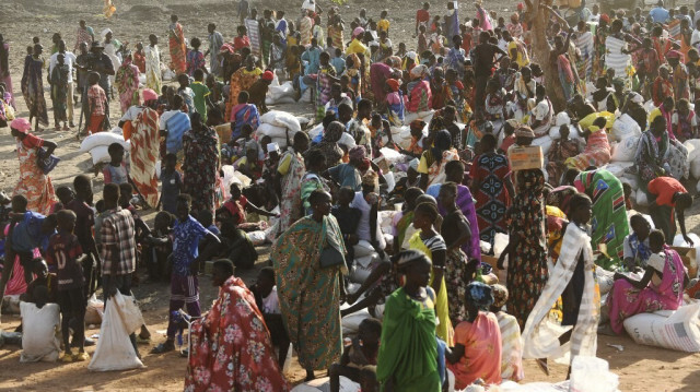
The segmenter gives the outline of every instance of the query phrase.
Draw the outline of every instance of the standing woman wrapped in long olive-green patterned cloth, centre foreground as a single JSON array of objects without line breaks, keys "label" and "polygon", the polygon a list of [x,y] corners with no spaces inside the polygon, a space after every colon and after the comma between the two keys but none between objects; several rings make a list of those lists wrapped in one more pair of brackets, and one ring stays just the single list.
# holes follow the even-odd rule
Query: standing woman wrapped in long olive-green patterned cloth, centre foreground
[{"label": "standing woman wrapped in long olive-green patterned cloth, centre foreground", "polygon": [[270,260],[284,326],[311,380],[314,370],[328,369],[340,359],[340,273],[347,268],[345,262],[320,264],[323,254],[346,254],[340,227],[330,215],[330,194],[315,190],[308,201],[313,213],[277,239]]}]

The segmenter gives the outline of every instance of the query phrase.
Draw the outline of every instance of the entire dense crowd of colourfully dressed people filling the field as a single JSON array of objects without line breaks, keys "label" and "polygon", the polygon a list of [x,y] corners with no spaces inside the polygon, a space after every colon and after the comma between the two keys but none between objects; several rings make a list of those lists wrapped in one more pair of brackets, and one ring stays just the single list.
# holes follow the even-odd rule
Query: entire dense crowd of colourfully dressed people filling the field
[{"label": "entire dense crowd of colourfully dressed people filling the field", "polygon": [[[595,356],[600,325],[620,334],[627,318],[679,308],[689,281],[669,245],[693,246],[684,142],[699,139],[700,12],[660,1],[649,15],[604,14],[584,2],[570,25],[556,5],[526,1],[508,17],[475,5],[460,19],[453,2],[424,3],[415,43],[398,43],[387,11],[347,23],[337,7],[305,0],[292,21],[258,17],[241,0],[231,41],[214,23],[188,39],[172,15],[170,63],[156,35],[130,51],[81,21],[78,55],[58,33],[50,59],[38,37],[27,46],[22,95],[0,35],[0,126],[20,161],[0,297],[23,269],[23,299],[60,306],[61,360],[86,360],[86,298],[130,293],[142,266],[171,285],[167,337],[153,354],[176,348],[180,309],[198,319],[186,391],[288,390],[290,343],[306,380],[328,371],[331,391],[340,376],[362,391],[440,391],[448,371],[457,389],[517,382],[524,358],[548,371],[548,359]],[[284,143],[257,132],[277,80],[310,97],[317,135],[288,129]],[[118,126],[130,141],[109,145],[100,201],[85,175],[54,189],[60,150],[39,136],[45,81],[57,130],[74,128],[81,108],[81,134]],[[15,116],[21,96],[28,119]],[[623,116],[641,135],[622,178],[606,165]],[[515,169],[533,146],[540,165]],[[252,185],[228,182],[223,167]],[[649,216],[633,213],[644,205],[630,181]],[[159,211],[153,227],[139,216],[148,209]],[[258,230],[271,266],[246,286],[234,268],[255,264]],[[350,283],[366,254],[368,275]],[[198,276],[211,261],[220,290],[203,314]],[[609,293],[600,276],[615,281]],[[48,299],[36,299],[39,286]],[[368,318],[343,336],[362,309]],[[150,332],[131,340],[138,353]]]}]

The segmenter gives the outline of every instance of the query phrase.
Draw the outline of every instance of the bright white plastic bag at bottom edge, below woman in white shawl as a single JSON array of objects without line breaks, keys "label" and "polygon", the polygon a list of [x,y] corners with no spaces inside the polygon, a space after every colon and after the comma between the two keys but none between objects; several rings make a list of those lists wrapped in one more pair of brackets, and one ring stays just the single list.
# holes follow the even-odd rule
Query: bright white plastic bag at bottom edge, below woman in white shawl
[{"label": "bright white plastic bag at bottom edge, below woman in white shawl", "polygon": [[619,383],[605,359],[575,356],[571,361],[570,392],[616,392]]}]

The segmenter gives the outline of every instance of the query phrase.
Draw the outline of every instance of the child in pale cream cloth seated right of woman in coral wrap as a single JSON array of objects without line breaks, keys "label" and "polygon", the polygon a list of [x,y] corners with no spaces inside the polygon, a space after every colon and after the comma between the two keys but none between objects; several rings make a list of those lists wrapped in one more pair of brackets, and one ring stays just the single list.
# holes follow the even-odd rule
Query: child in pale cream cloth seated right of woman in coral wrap
[{"label": "child in pale cream cloth seated right of woman in coral wrap", "polygon": [[502,310],[508,301],[508,288],[501,284],[494,284],[491,288],[493,289],[493,305],[490,310],[495,314],[501,331],[501,378],[518,382],[525,378],[521,326],[514,316]]}]

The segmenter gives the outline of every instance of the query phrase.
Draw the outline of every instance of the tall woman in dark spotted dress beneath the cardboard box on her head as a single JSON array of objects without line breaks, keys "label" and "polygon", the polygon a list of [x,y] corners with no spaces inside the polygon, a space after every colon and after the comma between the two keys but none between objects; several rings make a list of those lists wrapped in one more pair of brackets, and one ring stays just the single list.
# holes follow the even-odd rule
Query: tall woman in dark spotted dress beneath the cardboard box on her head
[{"label": "tall woman in dark spotted dress beneath the cardboard box on her head", "polygon": [[521,329],[547,283],[547,238],[545,224],[545,175],[540,169],[517,171],[518,192],[513,198],[510,242],[499,258],[503,269],[509,256],[506,287],[511,293],[508,312],[515,316]]}]

